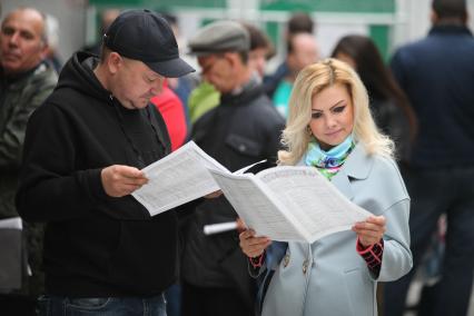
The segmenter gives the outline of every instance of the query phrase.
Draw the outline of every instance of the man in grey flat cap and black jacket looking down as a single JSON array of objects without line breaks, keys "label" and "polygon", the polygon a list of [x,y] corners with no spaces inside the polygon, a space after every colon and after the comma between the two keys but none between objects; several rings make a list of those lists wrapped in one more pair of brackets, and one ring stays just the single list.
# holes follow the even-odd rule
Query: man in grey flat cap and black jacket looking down
[{"label": "man in grey flat cap and black jacket looking down", "polygon": [[[249,34],[235,21],[217,21],[189,40],[203,80],[220,92],[219,105],[194,125],[191,138],[229,170],[267,159],[276,161],[285,121],[248,66]],[[182,316],[254,315],[255,283],[238,231],[206,236],[208,224],[236,221],[225,197],[199,205],[184,226]]]}]

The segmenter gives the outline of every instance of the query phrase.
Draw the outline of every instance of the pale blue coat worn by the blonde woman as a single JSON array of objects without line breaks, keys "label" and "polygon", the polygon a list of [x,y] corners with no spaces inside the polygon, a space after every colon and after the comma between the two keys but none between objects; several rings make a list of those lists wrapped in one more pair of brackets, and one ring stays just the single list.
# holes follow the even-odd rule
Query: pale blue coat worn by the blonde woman
[{"label": "pale blue coat worn by the blonde woman", "polygon": [[409,197],[396,164],[369,156],[358,145],[332,182],[353,203],[386,217],[378,277],[357,254],[357,237],[352,230],[310,245],[288,243],[268,287],[264,316],[377,315],[376,282],[395,280],[412,268]]}]

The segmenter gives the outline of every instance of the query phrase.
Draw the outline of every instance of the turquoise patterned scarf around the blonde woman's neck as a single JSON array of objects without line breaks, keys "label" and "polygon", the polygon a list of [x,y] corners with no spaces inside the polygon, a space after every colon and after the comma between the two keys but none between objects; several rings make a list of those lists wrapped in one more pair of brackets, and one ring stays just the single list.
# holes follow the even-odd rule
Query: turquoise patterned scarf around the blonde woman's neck
[{"label": "turquoise patterned scarf around the blonde woman's neck", "polygon": [[305,165],[316,167],[323,176],[330,180],[343,167],[354,147],[352,135],[328,151],[320,149],[319,144],[313,139],[306,151]]}]

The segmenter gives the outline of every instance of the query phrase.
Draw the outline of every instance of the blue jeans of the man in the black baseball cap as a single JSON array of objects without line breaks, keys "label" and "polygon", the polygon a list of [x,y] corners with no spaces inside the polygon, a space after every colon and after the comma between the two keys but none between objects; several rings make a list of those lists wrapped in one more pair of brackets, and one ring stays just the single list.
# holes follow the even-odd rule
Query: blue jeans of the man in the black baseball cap
[{"label": "blue jeans of the man in the black baseball cap", "polygon": [[166,316],[166,300],[162,295],[139,297],[91,297],[69,298],[40,296],[40,316]]}]

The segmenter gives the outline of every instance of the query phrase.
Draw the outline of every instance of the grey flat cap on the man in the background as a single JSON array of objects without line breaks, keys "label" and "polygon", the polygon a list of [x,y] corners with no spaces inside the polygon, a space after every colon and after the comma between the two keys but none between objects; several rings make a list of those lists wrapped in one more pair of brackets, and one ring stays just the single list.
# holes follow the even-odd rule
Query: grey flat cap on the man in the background
[{"label": "grey flat cap on the man in the background", "polygon": [[189,40],[189,53],[204,56],[225,51],[248,51],[250,38],[247,30],[235,21],[217,21]]}]

